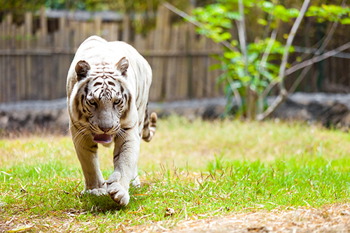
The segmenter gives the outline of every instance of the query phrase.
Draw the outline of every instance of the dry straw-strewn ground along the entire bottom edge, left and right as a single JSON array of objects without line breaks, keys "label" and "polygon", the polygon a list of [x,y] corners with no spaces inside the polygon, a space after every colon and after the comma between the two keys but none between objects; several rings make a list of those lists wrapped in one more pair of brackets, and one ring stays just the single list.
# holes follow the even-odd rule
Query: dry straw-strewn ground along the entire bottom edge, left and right
[{"label": "dry straw-strewn ground along the entire bottom edge, left and right", "polygon": [[[65,212],[64,212],[65,213]],[[30,218],[13,216],[8,220],[0,218],[0,232],[10,230],[29,230],[34,232],[80,232],[86,227],[90,231],[98,230],[94,223],[80,223],[76,220],[78,213],[65,213],[69,218]],[[83,213],[82,213],[83,214]],[[114,232],[349,232],[350,204],[333,204],[320,209],[311,207],[290,207],[288,210],[279,208],[272,211],[252,210],[247,213],[237,213],[231,216],[207,217],[200,220],[169,220],[152,222],[144,217],[145,224],[127,226],[113,223],[107,231]],[[90,224],[90,225],[89,225]]]}]

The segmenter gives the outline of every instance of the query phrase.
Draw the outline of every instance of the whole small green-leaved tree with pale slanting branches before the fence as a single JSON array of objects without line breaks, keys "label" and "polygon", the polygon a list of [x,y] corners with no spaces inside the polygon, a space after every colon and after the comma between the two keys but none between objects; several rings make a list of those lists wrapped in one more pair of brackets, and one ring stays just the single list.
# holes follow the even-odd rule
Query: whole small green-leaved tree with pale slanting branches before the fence
[{"label": "whole small green-leaved tree with pale slanting branches before the fence", "polygon": [[[295,91],[311,68],[311,64],[348,48],[346,43],[337,50],[321,55],[332,38],[337,24],[350,24],[350,8],[344,6],[344,2],[342,6],[322,4],[310,7],[309,3],[309,0],[304,0],[300,10],[297,10],[278,5],[275,1],[217,0],[216,3],[209,6],[193,10],[195,20],[193,18],[192,20],[201,23],[197,29],[198,33],[213,38],[216,42],[227,41],[237,48],[235,51],[224,48],[223,55],[215,56],[221,64],[212,67],[224,72],[218,78],[218,84],[225,86],[228,113],[235,105],[232,102],[232,96],[234,96],[236,101],[241,101],[237,105],[241,110],[239,113],[242,113],[244,118],[264,120],[286,101],[288,94]],[[254,21],[251,16],[252,11],[258,12],[259,18],[256,23],[265,29],[262,39],[256,36],[253,43],[248,43],[245,17],[249,17],[249,22]],[[290,53],[294,52],[293,39],[304,17],[316,17],[317,22],[329,21],[334,24],[314,57],[305,62],[297,60],[293,62],[295,65],[290,67],[288,61]],[[288,36],[283,35],[286,38],[286,43],[283,45],[281,41],[278,41],[280,37],[277,35],[281,31],[279,28],[290,22],[293,22],[293,27]],[[235,32],[233,24],[237,25],[238,41],[232,36]],[[256,28],[256,24],[253,27]],[[268,34],[270,34],[269,37],[267,37]],[[301,57],[306,58],[307,55]],[[277,65],[279,59],[280,64]],[[287,69],[288,67],[290,68]],[[300,69],[303,69],[302,73],[290,90],[286,90],[284,85],[286,77]],[[274,102],[267,106],[266,97],[276,84],[279,87],[279,94]]]}]

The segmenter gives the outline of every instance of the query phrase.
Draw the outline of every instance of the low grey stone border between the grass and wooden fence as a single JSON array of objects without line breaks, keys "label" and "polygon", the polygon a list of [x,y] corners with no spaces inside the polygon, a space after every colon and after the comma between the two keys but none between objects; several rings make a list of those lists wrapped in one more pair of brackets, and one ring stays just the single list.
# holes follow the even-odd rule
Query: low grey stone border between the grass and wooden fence
[{"label": "low grey stone border between the grass and wooden fence", "polygon": [[[271,103],[275,97],[267,98]],[[183,115],[189,120],[220,118],[225,110],[225,98],[191,99],[185,101],[158,102],[148,104],[150,112],[159,118]],[[272,118],[321,122],[325,127],[349,130],[350,94],[301,93],[291,95]],[[52,101],[18,101],[0,104],[0,131],[3,132],[69,132],[66,99]]]}]

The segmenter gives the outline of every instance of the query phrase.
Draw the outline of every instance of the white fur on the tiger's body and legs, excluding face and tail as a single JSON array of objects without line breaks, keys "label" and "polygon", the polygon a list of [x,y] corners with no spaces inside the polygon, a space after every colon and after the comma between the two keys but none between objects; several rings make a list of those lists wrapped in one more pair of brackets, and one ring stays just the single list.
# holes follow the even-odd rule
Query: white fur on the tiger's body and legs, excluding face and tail
[{"label": "white fur on the tiger's body and legs, excluding face and tail", "polygon": [[[116,69],[116,64],[122,57],[126,57],[129,62],[127,78],[120,77],[120,71]],[[78,81],[75,71],[76,64],[84,60],[90,64],[90,71],[87,78]],[[105,73],[113,73],[118,81],[123,83],[130,90],[132,101],[130,109],[125,119],[114,122],[122,128],[130,128],[123,136],[113,138],[113,155],[118,155],[114,161],[114,171],[107,181],[104,180],[99,169],[97,148],[87,122],[79,120],[77,106],[78,92],[82,87],[99,74],[97,69]],[[70,118],[70,131],[76,153],[83,169],[85,177],[85,191],[94,195],[108,193],[118,204],[125,206],[130,199],[128,190],[130,182],[139,185],[137,177],[137,160],[139,158],[139,145],[144,127],[144,116],[146,104],[148,102],[148,91],[151,86],[152,71],[146,59],[139,55],[139,52],[131,45],[120,41],[107,42],[98,36],[87,38],[78,48],[71,63],[67,76],[67,105]],[[92,88],[92,87],[90,87]],[[106,106],[107,101],[106,102]],[[107,109],[107,107],[106,107]],[[139,109],[139,111],[138,111]],[[105,110],[104,110],[105,111]],[[109,114],[108,111],[105,111]],[[100,113],[104,114],[104,113]],[[109,117],[106,117],[109,120]]]}]

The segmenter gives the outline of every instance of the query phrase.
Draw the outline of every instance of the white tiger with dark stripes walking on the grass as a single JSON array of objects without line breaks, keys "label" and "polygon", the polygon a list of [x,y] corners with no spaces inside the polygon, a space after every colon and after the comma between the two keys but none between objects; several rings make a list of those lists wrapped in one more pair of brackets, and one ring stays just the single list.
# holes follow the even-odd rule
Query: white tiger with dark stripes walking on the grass
[{"label": "white tiger with dark stripes walking on the grass", "polygon": [[[141,138],[150,141],[157,115],[148,115],[151,66],[131,45],[87,38],[76,51],[67,76],[69,129],[85,177],[85,190],[109,194],[125,206],[130,182],[139,185],[137,160]],[[114,171],[104,181],[98,143],[114,143]]]}]

